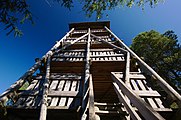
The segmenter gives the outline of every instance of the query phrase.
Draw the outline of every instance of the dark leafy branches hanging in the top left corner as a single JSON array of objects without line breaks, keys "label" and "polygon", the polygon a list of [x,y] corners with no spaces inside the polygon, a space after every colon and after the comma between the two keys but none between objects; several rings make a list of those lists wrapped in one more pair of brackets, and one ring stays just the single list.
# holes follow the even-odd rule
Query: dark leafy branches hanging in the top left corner
[{"label": "dark leafy branches hanging in the top left corner", "polygon": [[33,23],[26,0],[0,0],[0,23],[5,25],[7,35],[14,32],[14,36],[21,36],[23,33],[18,26],[25,20]]}]

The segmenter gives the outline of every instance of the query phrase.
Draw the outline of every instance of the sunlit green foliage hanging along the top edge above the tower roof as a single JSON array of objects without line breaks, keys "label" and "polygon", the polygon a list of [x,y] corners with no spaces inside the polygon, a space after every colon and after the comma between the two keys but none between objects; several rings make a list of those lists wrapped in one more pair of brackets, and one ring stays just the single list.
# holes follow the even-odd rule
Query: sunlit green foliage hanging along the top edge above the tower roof
[{"label": "sunlit green foliage hanging along the top edge above the tower roof", "polygon": [[[54,1],[61,3],[62,6],[69,9],[73,7],[73,0]],[[97,19],[102,17],[104,11],[114,9],[115,7],[132,7],[133,5],[137,5],[144,9],[145,4],[154,7],[161,1],[163,0],[80,0],[83,4],[82,10],[86,13],[86,16],[91,17],[92,14],[95,13]]]}]

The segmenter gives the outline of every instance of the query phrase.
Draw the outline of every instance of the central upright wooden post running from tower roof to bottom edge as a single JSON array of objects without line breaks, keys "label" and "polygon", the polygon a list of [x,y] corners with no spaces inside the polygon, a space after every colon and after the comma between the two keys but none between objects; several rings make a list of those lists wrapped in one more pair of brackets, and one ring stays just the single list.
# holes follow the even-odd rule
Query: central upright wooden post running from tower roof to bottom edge
[{"label": "central upright wooden post running from tower roof to bottom edge", "polygon": [[86,48],[86,61],[85,61],[85,71],[84,71],[84,85],[83,85],[83,98],[82,98],[82,120],[85,118],[86,112],[86,92],[88,89],[88,80],[90,76],[90,28],[88,29],[88,40],[87,40],[87,48]]}]

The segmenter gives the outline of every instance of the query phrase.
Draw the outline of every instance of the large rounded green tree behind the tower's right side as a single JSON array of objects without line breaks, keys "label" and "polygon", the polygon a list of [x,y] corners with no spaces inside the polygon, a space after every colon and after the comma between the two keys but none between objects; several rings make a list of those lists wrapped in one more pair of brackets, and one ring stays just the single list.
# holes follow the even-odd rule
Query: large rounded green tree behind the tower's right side
[{"label": "large rounded green tree behind the tower's right side", "polygon": [[133,39],[131,49],[169,84],[181,90],[181,46],[173,31],[140,33]]}]

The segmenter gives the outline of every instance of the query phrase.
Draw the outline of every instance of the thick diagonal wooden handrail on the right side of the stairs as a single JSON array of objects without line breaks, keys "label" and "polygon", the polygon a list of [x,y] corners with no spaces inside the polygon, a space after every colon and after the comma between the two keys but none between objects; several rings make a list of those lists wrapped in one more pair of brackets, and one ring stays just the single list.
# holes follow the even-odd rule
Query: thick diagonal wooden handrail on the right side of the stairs
[{"label": "thick diagonal wooden handrail on the right side of the stairs", "polygon": [[120,80],[114,73],[113,80],[118,84],[121,91],[131,100],[131,103],[139,110],[140,114],[147,120],[164,120],[164,118],[157,113],[151,106],[144,102],[138,95],[128,88],[122,80]]}]

